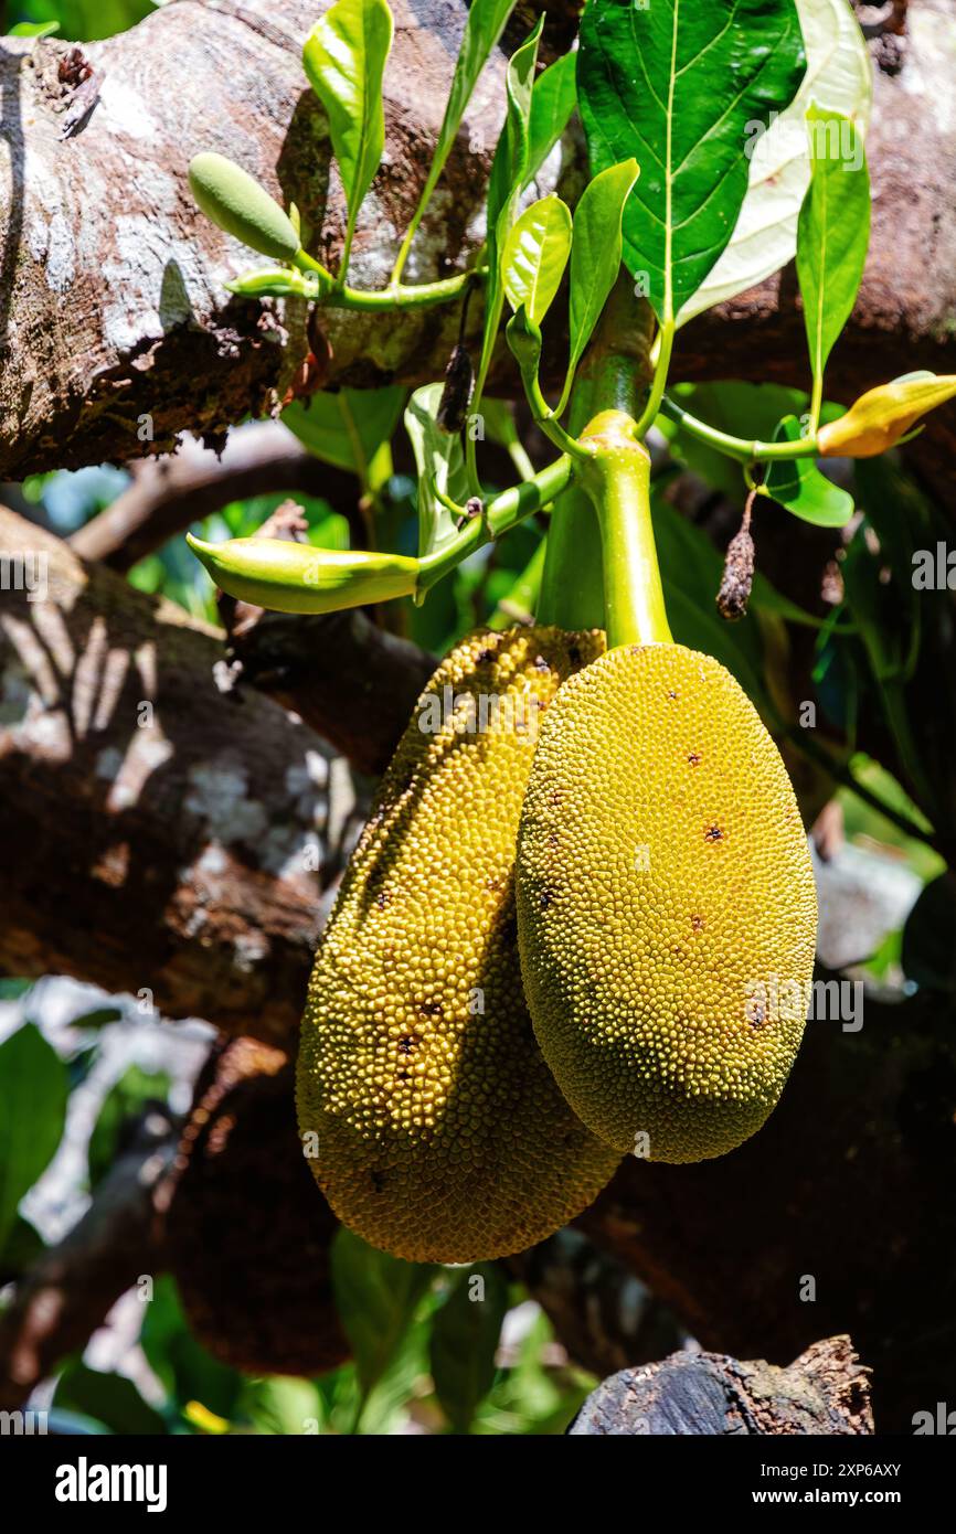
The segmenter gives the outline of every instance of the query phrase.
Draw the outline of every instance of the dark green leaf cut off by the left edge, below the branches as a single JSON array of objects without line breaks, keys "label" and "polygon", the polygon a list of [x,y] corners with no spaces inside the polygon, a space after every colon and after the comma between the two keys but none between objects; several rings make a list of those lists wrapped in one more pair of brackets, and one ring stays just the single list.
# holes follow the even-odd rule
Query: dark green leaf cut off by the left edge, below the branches
[{"label": "dark green leaf cut off by the left edge, below the branches", "polygon": [[17,1206],[52,1161],[66,1121],[66,1066],[25,1023],[0,1045],[0,1250]]}]

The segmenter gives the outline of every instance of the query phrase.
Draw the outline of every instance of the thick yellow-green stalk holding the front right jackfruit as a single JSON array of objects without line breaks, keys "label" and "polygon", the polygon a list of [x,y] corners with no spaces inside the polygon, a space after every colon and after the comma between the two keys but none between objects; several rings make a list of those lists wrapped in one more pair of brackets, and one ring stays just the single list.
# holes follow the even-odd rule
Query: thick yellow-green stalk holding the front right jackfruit
[{"label": "thick yellow-green stalk holding the front right jackfruit", "polygon": [[605,563],[608,646],[672,644],[651,523],[651,457],[635,423],[608,410],[582,434],[591,448],[575,476],[591,495]]}]

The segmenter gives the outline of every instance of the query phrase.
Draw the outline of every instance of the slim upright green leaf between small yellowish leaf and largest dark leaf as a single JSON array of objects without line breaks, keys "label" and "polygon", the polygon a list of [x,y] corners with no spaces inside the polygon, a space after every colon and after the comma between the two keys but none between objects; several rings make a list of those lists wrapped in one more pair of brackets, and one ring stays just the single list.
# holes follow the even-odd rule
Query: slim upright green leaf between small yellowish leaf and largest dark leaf
[{"label": "slim upright green leaf between small yellowish leaf and largest dark leaf", "polygon": [[571,360],[555,414],[562,414],[571,394],[574,373],[591,341],[608,295],[621,264],[621,219],[625,204],[640,175],[637,160],[609,166],[585,187],[574,210],[574,244],[571,247],[571,307],[568,328]]}]

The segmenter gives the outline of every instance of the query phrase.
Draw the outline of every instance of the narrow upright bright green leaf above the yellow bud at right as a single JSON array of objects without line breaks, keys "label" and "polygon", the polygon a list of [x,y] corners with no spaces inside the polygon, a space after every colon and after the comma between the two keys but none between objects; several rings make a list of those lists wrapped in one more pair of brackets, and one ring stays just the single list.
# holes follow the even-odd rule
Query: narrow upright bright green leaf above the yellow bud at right
[{"label": "narrow upright bright green leaf above the yellow bud at right", "polygon": [[839,112],[807,112],[810,187],[799,210],[796,278],[818,396],[833,342],[846,325],[870,242],[870,178],[862,138]]}]

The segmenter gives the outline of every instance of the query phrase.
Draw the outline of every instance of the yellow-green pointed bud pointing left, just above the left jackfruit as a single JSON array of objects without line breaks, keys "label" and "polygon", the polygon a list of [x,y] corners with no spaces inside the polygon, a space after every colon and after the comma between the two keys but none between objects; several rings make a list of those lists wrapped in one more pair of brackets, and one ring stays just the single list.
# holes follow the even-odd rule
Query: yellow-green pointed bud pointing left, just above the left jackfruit
[{"label": "yellow-green pointed bud pointing left, just above the left jackfruit", "polygon": [[273,612],[339,612],[414,594],[419,561],[402,554],[313,549],[284,538],[203,543],[186,534],[216,586]]}]

